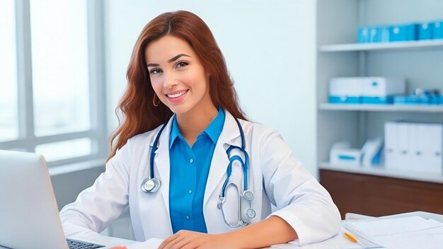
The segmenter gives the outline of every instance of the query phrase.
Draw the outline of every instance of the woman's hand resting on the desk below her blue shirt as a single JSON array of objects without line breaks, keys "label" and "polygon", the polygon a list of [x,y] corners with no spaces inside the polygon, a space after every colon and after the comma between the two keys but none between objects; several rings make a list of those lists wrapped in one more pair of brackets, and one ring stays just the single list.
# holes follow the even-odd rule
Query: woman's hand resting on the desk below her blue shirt
[{"label": "woman's hand resting on the desk below her blue shirt", "polygon": [[180,230],[166,238],[159,249],[234,249],[235,243],[226,234],[207,234]]}]

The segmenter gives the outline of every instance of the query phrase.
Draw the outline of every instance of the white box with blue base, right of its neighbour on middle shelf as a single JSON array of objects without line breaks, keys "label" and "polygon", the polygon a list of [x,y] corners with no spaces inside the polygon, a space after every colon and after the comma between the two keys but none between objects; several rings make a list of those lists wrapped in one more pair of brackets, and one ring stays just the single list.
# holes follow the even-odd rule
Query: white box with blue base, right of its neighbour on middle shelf
[{"label": "white box with blue base, right of its neighbour on middle shelf", "polygon": [[394,95],[404,95],[406,81],[397,77],[359,77],[363,86],[362,103],[393,103]]}]

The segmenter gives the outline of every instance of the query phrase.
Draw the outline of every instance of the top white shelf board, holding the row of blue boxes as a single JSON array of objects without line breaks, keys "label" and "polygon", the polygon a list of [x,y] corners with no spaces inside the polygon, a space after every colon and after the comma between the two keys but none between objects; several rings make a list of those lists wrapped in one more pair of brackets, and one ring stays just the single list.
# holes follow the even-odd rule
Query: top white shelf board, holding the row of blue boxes
[{"label": "top white shelf board, holding the row of blue boxes", "polygon": [[422,50],[442,48],[443,40],[418,40],[410,42],[378,42],[323,45],[320,52],[352,52],[372,50]]}]

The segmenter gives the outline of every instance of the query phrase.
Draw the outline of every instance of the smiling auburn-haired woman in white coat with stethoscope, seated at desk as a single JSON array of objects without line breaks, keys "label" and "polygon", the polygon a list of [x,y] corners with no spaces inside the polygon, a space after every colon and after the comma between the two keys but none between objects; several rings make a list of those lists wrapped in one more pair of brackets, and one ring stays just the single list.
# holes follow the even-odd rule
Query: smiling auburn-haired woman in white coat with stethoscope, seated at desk
[{"label": "smiling auburn-haired woman in white coat with stethoscope, seated at desk", "polygon": [[278,132],[246,119],[195,14],[144,27],[117,110],[105,173],[60,212],[67,236],[100,233],[128,205],[135,239],[165,238],[159,248],[305,245],[338,233],[328,192]]}]

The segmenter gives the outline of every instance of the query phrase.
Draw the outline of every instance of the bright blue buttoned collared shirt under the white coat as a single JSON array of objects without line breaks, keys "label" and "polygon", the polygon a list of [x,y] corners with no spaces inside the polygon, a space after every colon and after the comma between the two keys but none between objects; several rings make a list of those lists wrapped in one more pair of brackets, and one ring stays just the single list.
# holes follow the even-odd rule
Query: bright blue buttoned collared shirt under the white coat
[{"label": "bright blue buttoned collared shirt under the white coat", "polygon": [[169,213],[173,233],[182,229],[207,233],[203,197],[224,117],[224,110],[219,108],[217,117],[197,136],[192,148],[180,133],[176,117],[173,118],[169,137]]}]

